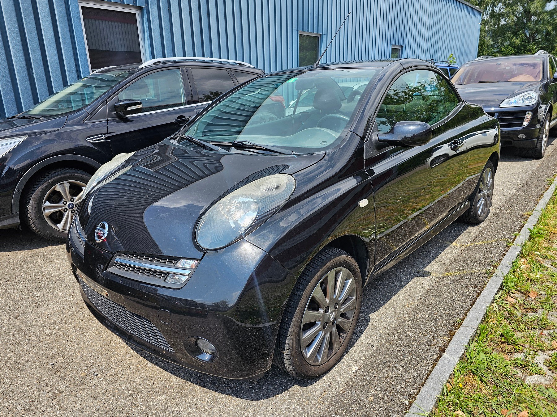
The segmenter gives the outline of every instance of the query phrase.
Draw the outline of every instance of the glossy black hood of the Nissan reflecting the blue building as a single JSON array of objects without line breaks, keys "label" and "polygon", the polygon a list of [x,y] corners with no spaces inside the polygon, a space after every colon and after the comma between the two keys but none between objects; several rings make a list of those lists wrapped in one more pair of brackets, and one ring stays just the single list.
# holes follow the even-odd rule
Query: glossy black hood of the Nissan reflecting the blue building
[{"label": "glossy black hood of the Nissan reflecting the blue building", "polygon": [[[199,259],[194,227],[204,210],[245,183],[293,174],[323,156],[206,152],[165,140],[136,152],[128,171],[87,196],[79,221],[87,240],[109,252]],[[97,243],[101,222],[109,234]]]}]

